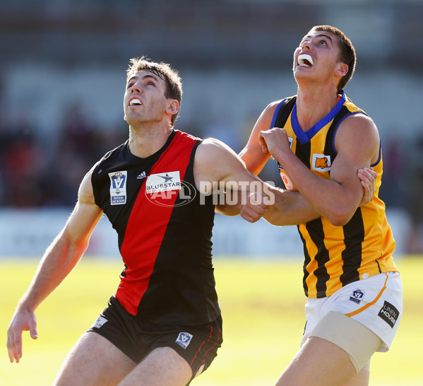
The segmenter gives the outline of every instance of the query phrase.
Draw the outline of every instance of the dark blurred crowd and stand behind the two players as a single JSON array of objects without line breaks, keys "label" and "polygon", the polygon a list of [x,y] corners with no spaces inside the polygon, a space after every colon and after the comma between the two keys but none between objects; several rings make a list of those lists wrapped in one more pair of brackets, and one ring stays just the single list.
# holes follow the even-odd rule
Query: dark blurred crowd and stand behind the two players
[{"label": "dark blurred crowd and stand behind the two players", "polygon": [[[19,0],[0,4],[0,209],[73,207],[83,175],[126,140],[131,57],[184,83],[175,128],[240,151],[268,103],[296,93],[292,54],[313,25],[357,49],[347,96],[376,122],[380,196],[422,253],[422,1]],[[263,180],[279,181],[274,163]]]}]

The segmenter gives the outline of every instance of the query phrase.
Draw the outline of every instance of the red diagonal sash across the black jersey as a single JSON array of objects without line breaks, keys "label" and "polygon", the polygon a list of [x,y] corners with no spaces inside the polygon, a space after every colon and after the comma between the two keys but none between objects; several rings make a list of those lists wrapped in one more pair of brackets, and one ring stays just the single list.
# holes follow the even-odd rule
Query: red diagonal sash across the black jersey
[{"label": "red diagonal sash across the black jersey", "polygon": [[[189,134],[177,131],[169,147],[153,165],[149,176],[179,171],[182,182],[196,140]],[[140,300],[148,288],[174,202],[179,194],[179,190],[160,192],[154,194],[152,199],[153,195],[145,192],[146,183],[147,179],[138,192],[121,245],[126,271],[117,289],[116,298],[131,315],[137,314]],[[164,198],[160,201],[160,197]]]}]

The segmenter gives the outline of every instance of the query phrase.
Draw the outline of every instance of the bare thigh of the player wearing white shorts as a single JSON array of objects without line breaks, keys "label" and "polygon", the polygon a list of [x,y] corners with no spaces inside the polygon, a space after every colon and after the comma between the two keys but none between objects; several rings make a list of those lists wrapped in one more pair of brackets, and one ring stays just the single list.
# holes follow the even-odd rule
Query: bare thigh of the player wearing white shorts
[{"label": "bare thigh of the player wearing white shorts", "polygon": [[363,375],[366,374],[361,371],[356,373],[346,351],[326,339],[310,337],[280,375],[276,385],[339,386],[347,382],[360,385],[353,382],[353,378]]}]

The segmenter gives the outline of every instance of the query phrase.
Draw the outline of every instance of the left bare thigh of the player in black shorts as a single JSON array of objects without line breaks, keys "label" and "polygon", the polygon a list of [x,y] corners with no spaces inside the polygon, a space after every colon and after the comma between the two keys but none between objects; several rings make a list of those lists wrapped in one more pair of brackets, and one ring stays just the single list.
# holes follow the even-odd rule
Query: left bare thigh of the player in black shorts
[{"label": "left bare thigh of the player in black shorts", "polygon": [[135,367],[136,363],[105,337],[86,332],[68,353],[54,385],[117,385]]}]

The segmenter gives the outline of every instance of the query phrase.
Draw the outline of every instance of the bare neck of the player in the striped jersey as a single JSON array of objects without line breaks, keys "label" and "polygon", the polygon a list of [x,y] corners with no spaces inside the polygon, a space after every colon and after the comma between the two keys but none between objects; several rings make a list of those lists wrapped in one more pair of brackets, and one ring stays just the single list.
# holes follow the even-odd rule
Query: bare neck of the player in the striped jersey
[{"label": "bare neck of the player in the striped jersey", "polygon": [[322,86],[298,88],[297,120],[303,131],[326,117],[338,101],[336,88]]}]

